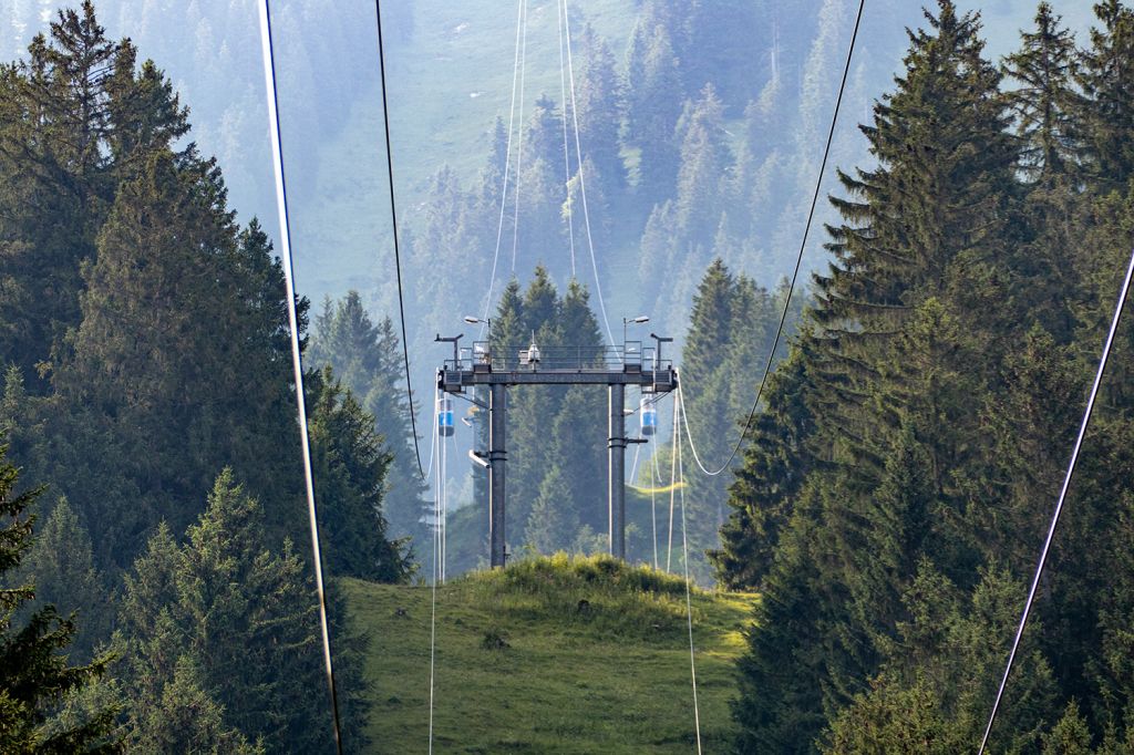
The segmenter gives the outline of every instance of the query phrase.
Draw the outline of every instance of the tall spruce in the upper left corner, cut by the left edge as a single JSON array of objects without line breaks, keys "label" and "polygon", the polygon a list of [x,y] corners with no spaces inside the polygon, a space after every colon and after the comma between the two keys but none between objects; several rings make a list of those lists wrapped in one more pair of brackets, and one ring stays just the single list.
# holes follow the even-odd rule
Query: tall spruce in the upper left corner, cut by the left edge
[{"label": "tall spruce in the upper left corner, cut by the left edge", "polygon": [[86,1],[59,11],[50,36],[2,75],[0,360],[19,366],[35,393],[44,388],[36,366],[78,323],[79,265],[94,256],[113,194],[104,79],[119,49]]}]

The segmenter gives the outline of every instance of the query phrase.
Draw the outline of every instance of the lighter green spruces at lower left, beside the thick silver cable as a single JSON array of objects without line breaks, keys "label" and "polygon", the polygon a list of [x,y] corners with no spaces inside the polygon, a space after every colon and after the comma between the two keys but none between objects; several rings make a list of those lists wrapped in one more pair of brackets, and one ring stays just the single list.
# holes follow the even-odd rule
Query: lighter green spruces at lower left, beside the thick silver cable
[{"label": "lighter green spruces at lower left, beside the thick silver cable", "polygon": [[[327,749],[316,599],[291,544],[269,549],[262,529],[260,504],[226,470],[186,544],[159,529],[127,578],[117,642],[136,701],[129,730],[137,746]],[[355,641],[340,643],[353,647]],[[346,678],[352,681],[340,696],[357,701],[357,675]],[[170,726],[192,710],[201,711],[198,723]],[[365,746],[364,716],[356,709],[347,722],[354,752]]]}]

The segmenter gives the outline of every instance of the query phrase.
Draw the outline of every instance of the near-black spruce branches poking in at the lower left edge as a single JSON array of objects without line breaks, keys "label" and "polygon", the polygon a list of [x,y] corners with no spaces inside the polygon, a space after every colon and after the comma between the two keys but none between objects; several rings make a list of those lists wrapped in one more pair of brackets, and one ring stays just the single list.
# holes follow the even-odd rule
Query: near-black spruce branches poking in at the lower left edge
[{"label": "near-black spruce branches poking in at the lower left edge", "polygon": [[16,621],[22,605],[35,597],[35,585],[9,582],[33,546],[27,510],[42,487],[19,490],[19,472],[0,446],[0,749],[6,753],[116,753],[112,737],[118,711],[103,707],[71,726],[51,727],[57,707],[105,673],[111,656],[88,665],[68,663],[66,650],[75,639],[74,616],[62,617],[53,605],[39,608]]}]

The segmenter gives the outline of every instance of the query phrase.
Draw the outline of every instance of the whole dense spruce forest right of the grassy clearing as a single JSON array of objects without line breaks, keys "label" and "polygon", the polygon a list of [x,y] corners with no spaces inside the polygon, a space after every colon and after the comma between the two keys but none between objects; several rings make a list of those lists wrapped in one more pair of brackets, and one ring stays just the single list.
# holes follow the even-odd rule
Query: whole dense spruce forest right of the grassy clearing
[{"label": "whole dense spruce forest right of the grassy clearing", "polygon": [[[971,752],[1134,244],[1134,10],[1041,3],[982,54],[948,0],[863,125],[833,255],[730,491],[759,588],[743,752]],[[992,752],[1134,747],[1129,357],[1119,331]]]}]

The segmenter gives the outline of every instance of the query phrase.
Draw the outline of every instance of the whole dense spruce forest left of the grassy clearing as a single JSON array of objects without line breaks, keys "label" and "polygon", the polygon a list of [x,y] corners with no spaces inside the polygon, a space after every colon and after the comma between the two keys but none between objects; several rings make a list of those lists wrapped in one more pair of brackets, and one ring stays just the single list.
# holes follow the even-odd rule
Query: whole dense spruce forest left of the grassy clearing
[{"label": "whole dense spruce forest left of the grassy clearing", "polygon": [[[237,224],[171,84],[90,2],[0,67],[0,749],[325,752],[268,236]],[[398,350],[382,333],[363,336]],[[336,575],[404,582],[381,504],[392,455],[363,408],[397,398],[371,380],[361,399],[331,366],[304,381],[323,553]],[[333,582],[330,600],[347,747],[364,752],[366,638]]]}]

